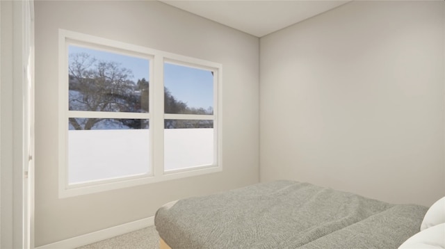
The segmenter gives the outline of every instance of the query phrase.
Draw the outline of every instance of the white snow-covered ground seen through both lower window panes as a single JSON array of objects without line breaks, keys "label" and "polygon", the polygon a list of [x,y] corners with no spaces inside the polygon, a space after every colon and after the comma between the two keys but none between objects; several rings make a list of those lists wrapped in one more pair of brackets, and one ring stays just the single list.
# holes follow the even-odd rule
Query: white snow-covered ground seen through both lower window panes
[{"label": "white snow-covered ground seen through both lower window panes", "polygon": [[[148,129],[68,131],[69,182],[152,172]],[[213,163],[213,129],[165,129],[165,171]]]}]

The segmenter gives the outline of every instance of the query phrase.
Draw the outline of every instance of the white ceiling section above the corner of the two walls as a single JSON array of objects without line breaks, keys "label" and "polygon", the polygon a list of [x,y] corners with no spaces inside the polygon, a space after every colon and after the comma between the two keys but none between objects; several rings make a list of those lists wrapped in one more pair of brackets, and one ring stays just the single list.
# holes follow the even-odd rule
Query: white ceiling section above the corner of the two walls
[{"label": "white ceiling section above the corner of the two walls", "polygon": [[161,1],[170,6],[261,37],[341,6],[350,0]]}]

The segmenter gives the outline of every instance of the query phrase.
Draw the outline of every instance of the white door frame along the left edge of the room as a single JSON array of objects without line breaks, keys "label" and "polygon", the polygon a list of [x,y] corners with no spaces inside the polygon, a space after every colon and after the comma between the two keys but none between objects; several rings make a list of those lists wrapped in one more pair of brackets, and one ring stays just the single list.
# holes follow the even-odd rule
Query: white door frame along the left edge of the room
[{"label": "white door frame along the left edge of the room", "polygon": [[0,6],[0,247],[33,248],[33,0]]}]

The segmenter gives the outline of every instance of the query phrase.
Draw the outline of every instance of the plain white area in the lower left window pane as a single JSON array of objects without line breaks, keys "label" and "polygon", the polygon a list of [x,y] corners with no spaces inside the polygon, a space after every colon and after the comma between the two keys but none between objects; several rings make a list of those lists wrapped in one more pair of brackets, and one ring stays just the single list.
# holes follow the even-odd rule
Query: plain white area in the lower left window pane
[{"label": "plain white area in the lower left window pane", "polygon": [[69,184],[152,174],[147,128],[70,130],[68,146]]}]

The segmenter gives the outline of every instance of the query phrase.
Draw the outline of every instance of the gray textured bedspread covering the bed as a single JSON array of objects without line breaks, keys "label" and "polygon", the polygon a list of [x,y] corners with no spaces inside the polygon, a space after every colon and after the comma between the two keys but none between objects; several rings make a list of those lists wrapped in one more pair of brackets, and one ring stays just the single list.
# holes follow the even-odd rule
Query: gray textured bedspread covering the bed
[{"label": "gray textured bedspread covering the bed", "polygon": [[397,248],[426,211],[279,181],[179,200],[154,222],[173,249]]}]

